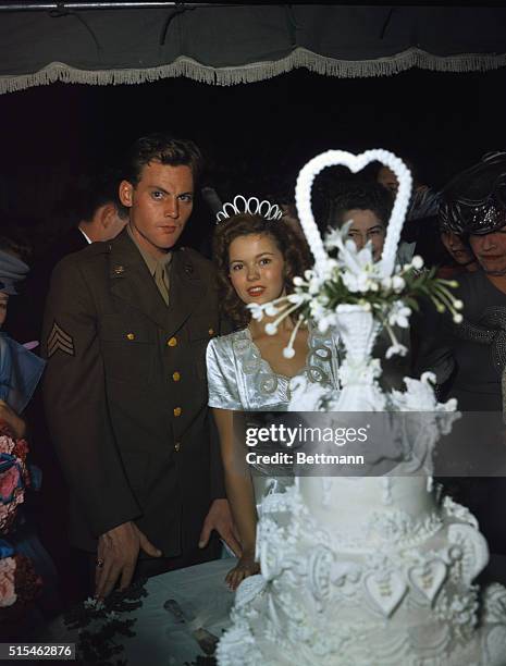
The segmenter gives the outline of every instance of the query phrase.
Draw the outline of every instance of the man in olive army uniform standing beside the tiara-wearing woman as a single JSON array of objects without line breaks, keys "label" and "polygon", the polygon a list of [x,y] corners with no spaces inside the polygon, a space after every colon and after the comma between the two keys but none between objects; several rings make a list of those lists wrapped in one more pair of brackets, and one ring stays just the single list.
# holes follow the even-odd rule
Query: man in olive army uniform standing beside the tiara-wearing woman
[{"label": "man in olive army uniform standing beside the tiara-wearing woman", "polygon": [[215,557],[211,530],[238,551],[207,408],[214,270],[174,247],[200,162],[192,141],[138,139],[120,184],[126,229],[65,258],[51,281],[45,404],[72,493],[71,539],[94,554],[100,597],[134,571]]}]

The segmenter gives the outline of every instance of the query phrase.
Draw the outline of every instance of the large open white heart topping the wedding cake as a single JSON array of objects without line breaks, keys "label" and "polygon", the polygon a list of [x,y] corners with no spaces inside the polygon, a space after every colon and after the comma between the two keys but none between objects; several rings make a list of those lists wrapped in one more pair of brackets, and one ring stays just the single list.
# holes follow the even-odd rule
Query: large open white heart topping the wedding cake
[{"label": "large open white heart topping the wedding cake", "polygon": [[381,256],[381,272],[384,276],[392,275],[395,268],[395,256],[400,238],[404,218],[411,195],[411,174],[404,162],[393,152],[382,149],[367,150],[360,155],[353,155],[345,150],[328,150],[310,160],[300,171],[295,187],[295,201],[297,205],[300,224],[306,234],[311,252],[314,257],[314,270],[318,272],[326,264],[329,258],[323,240],[318,230],[311,209],[311,188],[316,176],[326,166],[347,166],[353,173],[361,171],[370,162],[381,162],[391,169],[398,181],[398,190],[392,215],[386,230],[386,238]]}]

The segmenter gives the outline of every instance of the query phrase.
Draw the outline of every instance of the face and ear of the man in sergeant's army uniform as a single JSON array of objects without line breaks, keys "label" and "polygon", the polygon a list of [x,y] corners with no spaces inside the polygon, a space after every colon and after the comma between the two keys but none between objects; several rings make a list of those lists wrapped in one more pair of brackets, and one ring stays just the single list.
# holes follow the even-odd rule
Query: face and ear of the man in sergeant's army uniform
[{"label": "face and ear of the man in sergeant's army uniform", "polygon": [[120,200],[129,208],[129,224],[138,244],[155,257],[164,255],[175,245],[192,214],[192,170],[149,162],[136,186],[127,181],[120,184]]}]

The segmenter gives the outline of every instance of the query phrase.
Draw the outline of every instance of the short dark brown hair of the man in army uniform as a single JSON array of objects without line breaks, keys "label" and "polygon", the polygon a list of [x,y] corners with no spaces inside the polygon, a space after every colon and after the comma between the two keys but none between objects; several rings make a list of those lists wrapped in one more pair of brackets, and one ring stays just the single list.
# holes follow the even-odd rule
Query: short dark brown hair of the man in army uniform
[{"label": "short dark brown hair of the man in army uniform", "polygon": [[177,139],[170,134],[157,133],[138,138],[131,147],[124,166],[123,177],[132,185],[140,181],[143,169],[150,162],[171,166],[189,166],[197,182],[202,171],[200,150],[189,139]]}]

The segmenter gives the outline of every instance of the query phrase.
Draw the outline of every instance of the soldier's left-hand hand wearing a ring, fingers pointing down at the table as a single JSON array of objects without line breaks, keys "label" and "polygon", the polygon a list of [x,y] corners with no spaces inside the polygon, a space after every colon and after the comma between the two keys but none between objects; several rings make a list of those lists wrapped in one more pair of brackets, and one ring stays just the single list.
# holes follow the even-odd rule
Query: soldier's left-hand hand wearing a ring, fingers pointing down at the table
[{"label": "soldier's left-hand hand wearing a ring, fingers pointing down at the table", "polygon": [[95,572],[96,597],[104,599],[110,594],[120,576],[120,590],[129,585],[140,550],[151,557],[161,556],[161,551],[132,521],[123,522],[100,535]]}]

